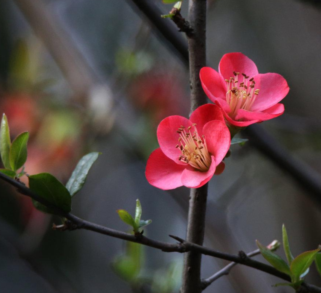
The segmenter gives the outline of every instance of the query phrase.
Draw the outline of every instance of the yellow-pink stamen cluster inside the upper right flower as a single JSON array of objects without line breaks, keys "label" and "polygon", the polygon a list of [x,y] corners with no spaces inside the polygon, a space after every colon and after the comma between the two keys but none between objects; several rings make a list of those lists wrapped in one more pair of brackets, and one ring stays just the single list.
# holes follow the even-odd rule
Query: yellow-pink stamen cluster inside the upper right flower
[{"label": "yellow-pink stamen cluster inside the upper right flower", "polygon": [[236,114],[239,109],[244,109],[247,111],[251,110],[251,107],[256,99],[256,96],[259,94],[259,89],[255,88],[254,78],[247,76],[245,73],[243,75],[243,81],[239,80],[239,72],[233,71],[234,77],[230,79],[225,79],[227,83],[227,93],[226,93],[226,102],[230,106],[229,116],[232,119],[235,119]]}]

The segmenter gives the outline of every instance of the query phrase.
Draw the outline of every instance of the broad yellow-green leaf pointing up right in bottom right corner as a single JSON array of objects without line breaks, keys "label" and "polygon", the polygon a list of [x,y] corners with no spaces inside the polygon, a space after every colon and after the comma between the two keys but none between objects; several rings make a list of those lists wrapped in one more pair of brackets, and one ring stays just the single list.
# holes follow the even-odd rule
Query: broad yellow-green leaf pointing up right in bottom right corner
[{"label": "broad yellow-green leaf pointing up right in bottom right corner", "polygon": [[295,282],[299,281],[300,276],[310,267],[320,249],[318,247],[315,250],[301,253],[292,261],[290,269]]}]

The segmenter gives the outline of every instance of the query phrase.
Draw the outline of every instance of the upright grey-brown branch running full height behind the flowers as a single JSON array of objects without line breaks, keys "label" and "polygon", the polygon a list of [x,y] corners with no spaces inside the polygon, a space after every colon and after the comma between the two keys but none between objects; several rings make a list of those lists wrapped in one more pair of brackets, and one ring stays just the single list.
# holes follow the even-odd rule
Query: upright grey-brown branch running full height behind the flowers
[{"label": "upright grey-brown branch running full height behind the flowers", "polygon": [[[207,100],[199,79],[200,69],[206,65],[206,0],[189,0],[188,21],[193,29],[188,35],[192,112]],[[191,189],[186,240],[199,245],[204,240],[206,199],[207,184]],[[201,259],[200,253],[185,253],[181,293],[202,291]]]}]

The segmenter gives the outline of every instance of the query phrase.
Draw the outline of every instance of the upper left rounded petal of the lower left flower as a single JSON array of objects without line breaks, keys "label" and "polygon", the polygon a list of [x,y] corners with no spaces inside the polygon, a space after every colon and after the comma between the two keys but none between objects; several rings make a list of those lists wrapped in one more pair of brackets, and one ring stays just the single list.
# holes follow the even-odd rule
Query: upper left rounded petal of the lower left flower
[{"label": "upper left rounded petal of the lower left flower", "polygon": [[157,128],[157,139],[160,145],[161,150],[165,155],[170,159],[175,161],[177,164],[186,164],[184,162],[178,161],[181,151],[179,148],[176,148],[178,144],[179,134],[176,132],[180,126],[185,127],[191,126],[192,123],[190,120],[183,116],[169,116],[160,121],[160,124]]}]

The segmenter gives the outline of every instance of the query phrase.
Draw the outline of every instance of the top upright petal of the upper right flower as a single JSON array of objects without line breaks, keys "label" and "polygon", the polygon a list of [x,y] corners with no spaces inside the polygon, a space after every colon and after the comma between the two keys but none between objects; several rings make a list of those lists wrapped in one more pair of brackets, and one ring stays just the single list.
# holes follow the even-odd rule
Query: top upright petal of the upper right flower
[{"label": "top upright petal of the upper right flower", "polygon": [[258,74],[255,63],[240,52],[227,53],[222,57],[220,61],[219,73],[223,76],[224,79],[234,77],[233,71],[245,73],[250,77]]}]

